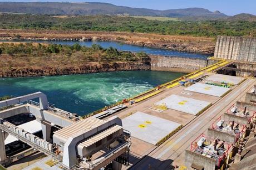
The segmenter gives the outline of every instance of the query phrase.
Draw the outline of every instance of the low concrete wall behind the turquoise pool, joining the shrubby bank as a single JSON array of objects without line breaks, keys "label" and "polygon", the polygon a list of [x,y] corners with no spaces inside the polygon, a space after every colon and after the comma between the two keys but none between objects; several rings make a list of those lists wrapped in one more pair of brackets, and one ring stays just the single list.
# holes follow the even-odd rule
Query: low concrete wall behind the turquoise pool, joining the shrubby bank
[{"label": "low concrete wall behind the turquoise pool, joining the shrubby bank", "polygon": [[191,73],[207,66],[206,59],[150,55],[151,70]]}]

